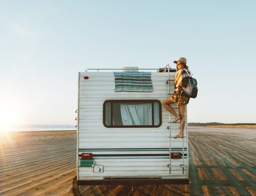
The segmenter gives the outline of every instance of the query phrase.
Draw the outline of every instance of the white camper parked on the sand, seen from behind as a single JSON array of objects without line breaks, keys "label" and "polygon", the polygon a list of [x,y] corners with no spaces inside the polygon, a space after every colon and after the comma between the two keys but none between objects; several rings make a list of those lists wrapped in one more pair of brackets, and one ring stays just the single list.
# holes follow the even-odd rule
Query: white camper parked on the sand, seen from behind
[{"label": "white camper parked on the sand, seen from behind", "polygon": [[[143,72],[149,73],[151,91],[116,90],[121,83],[115,73]],[[78,185],[188,184],[187,108],[185,138],[174,138],[180,123],[172,123],[162,107],[174,90],[174,75],[169,66],[160,72],[134,67],[79,72]]]}]

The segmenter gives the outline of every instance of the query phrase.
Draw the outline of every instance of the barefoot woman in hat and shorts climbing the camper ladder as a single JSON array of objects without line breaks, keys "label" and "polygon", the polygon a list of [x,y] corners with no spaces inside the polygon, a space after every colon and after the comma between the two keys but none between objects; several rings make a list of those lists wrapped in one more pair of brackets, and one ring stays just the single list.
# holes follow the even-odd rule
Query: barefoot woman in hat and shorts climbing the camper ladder
[{"label": "barefoot woman in hat and shorts climbing the camper ladder", "polygon": [[[163,107],[174,115],[175,118],[172,123],[176,123],[180,120],[180,132],[174,138],[183,138],[183,130],[185,126],[185,106],[188,104],[188,101],[190,101],[190,98],[181,95],[182,87],[184,87],[184,84],[182,84],[182,79],[185,78],[185,76],[188,76],[188,74],[191,75],[191,72],[188,69],[186,58],[180,57],[177,59],[177,61],[174,61],[174,63],[176,64],[176,75],[174,77],[175,90],[172,96],[163,100],[162,103]],[[179,114],[177,114],[177,112],[175,112],[175,110],[170,106],[172,103],[176,103],[178,105]]]}]

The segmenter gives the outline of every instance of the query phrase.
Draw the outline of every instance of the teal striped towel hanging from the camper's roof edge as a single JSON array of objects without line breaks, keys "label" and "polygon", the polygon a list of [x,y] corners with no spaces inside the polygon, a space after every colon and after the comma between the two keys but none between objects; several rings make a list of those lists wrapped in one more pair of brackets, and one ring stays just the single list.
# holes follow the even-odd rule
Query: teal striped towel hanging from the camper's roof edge
[{"label": "teal striped towel hanging from the camper's roof edge", "polygon": [[115,92],[152,92],[151,72],[114,72]]}]

